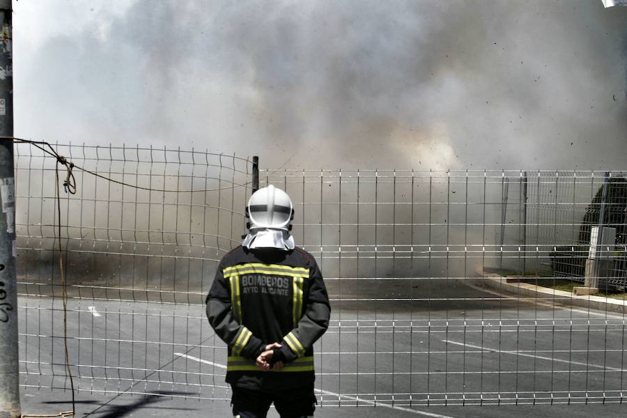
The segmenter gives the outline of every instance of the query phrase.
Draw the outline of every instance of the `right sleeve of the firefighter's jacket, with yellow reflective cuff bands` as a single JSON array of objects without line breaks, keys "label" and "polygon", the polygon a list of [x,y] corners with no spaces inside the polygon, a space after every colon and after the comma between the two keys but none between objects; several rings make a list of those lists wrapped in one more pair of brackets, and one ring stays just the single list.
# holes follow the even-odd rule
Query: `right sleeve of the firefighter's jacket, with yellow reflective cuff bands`
[{"label": "right sleeve of the firefighter's jacket, with yellow reflective cuff bands", "polygon": [[304,353],[314,345],[329,327],[331,306],[327,288],[323,281],[322,273],[314,261],[314,265],[309,270],[309,292],[304,301],[304,314],[298,321],[297,326],[288,332],[281,341],[281,353],[286,362],[291,362],[298,357],[303,357]]}]

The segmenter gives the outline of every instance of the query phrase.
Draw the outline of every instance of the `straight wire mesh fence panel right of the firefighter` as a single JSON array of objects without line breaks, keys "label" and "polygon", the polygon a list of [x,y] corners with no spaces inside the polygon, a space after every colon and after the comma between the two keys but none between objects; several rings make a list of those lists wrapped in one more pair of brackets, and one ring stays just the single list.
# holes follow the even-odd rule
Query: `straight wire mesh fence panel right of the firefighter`
[{"label": "straight wire mesh fence panel right of the firefighter", "polygon": [[[623,184],[620,173],[608,176]],[[319,259],[334,302],[333,337],[320,343],[321,362],[334,372],[319,376],[320,387],[342,394],[340,404],[621,401],[624,293],[615,295],[620,314],[612,315],[607,305],[605,312],[573,308],[571,294],[552,291],[562,276],[584,278],[564,264],[587,262],[601,211],[593,199],[605,178],[394,170],[268,176],[301,202],[295,237]],[[606,203],[623,215],[605,226],[624,228],[627,201]],[[585,251],[555,254],[568,245]],[[624,258],[624,247],[615,245],[612,256]],[[612,263],[605,277],[624,286],[624,268]],[[548,291],[502,281],[490,289],[486,276]]]}]

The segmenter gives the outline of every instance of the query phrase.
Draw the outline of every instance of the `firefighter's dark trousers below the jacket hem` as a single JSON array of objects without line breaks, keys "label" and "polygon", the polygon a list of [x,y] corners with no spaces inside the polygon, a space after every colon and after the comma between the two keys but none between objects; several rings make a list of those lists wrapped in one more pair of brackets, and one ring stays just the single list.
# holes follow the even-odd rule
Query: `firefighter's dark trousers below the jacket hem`
[{"label": "firefighter's dark trousers below the jacket hem", "polygon": [[281,418],[313,417],[318,403],[313,387],[277,392],[240,389],[234,386],[231,386],[231,389],[233,417],[239,418],[265,418],[272,403]]}]

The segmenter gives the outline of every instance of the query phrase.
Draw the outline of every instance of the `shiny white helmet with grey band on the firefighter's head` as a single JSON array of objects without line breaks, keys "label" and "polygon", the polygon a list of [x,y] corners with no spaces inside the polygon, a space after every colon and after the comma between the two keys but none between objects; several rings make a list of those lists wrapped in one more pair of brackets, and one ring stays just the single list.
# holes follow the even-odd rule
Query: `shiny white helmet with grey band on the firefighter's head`
[{"label": "shiny white helmet with grey band on the firefighter's head", "polygon": [[294,209],[290,196],[273,185],[258,189],[246,206],[250,218],[249,229],[282,229],[290,231]]}]

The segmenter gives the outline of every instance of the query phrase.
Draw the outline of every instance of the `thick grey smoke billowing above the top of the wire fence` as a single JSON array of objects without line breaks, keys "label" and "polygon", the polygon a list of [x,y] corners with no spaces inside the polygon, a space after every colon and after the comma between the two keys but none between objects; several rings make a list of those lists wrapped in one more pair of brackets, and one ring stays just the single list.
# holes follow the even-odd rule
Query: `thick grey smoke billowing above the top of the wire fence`
[{"label": "thick grey smoke billowing above the top of the wire fence", "polygon": [[627,8],[601,1],[20,1],[14,26],[20,137],[268,168],[627,157]]}]

